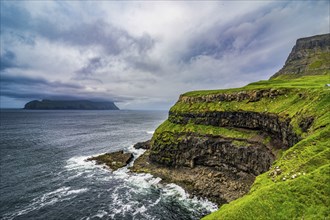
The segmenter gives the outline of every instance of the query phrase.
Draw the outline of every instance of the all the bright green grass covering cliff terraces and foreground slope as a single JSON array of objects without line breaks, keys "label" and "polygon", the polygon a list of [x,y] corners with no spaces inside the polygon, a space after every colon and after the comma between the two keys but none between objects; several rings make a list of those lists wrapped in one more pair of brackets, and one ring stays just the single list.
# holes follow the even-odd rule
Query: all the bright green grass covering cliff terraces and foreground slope
[{"label": "all the bright green grass covering cliff terraces and foreground slope", "polygon": [[[313,68],[317,68],[319,64],[313,65]],[[218,211],[204,219],[330,218],[330,88],[325,86],[329,83],[330,73],[327,72],[325,75],[302,76],[290,80],[278,77],[237,89],[194,91],[183,94],[183,96],[201,97],[259,89],[283,89],[285,93],[282,95],[275,98],[262,98],[256,102],[248,100],[193,103],[178,101],[170,110],[174,113],[171,117],[180,117],[180,114],[184,113],[217,111],[276,114],[282,120],[289,118],[294,131],[303,138],[290,149],[278,152],[278,159],[274,161],[271,169],[256,178],[247,195],[223,205]],[[303,132],[299,123],[308,117],[313,117],[314,122],[307,132]],[[245,139],[256,135],[256,131],[196,125],[193,121],[186,125],[165,121],[156,130],[153,140],[165,137],[166,146],[171,146],[171,141],[178,139],[176,137],[174,140],[173,134],[181,132]],[[266,138],[266,141],[269,142],[269,138]],[[274,174],[277,167],[281,172]]]}]

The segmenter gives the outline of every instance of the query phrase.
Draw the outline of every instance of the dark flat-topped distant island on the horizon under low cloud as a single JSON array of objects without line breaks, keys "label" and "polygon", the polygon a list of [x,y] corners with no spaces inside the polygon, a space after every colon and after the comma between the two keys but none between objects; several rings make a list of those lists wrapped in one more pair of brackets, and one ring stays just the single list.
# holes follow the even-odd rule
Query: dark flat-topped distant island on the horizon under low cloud
[{"label": "dark flat-topped distant island on the horizon under low cloud", "polygon": [[113,102],[88,100],[34,100],[25,104],[24,109],[34,110],[119,110]]}]

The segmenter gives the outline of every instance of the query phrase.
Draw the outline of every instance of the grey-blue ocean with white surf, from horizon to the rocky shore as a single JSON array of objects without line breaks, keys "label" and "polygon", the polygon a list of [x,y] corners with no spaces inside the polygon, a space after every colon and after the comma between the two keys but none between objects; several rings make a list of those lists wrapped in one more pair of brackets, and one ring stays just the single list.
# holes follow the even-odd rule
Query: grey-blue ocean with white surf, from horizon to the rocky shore
[{"label": "grey-blue ocean with white surf, from horizon to the rocky shore", "polygon": [[1,110],[0,219],[200,219],[215,204],[150,174],[86,161],[146,141],[162,111]]}]

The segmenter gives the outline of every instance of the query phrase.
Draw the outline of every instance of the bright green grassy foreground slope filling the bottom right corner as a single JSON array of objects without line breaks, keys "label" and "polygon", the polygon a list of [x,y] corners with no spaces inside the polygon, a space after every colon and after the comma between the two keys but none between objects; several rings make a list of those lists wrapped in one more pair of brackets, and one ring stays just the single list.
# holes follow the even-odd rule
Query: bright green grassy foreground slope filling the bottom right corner
[{"label": "bright green grassy foreground slope filling the bottom right corner", "polygon": [[274,163],[279,176],[258,176],[247,195],[203,219],[328,219],[329,137],[327,128],[299,142]]}]

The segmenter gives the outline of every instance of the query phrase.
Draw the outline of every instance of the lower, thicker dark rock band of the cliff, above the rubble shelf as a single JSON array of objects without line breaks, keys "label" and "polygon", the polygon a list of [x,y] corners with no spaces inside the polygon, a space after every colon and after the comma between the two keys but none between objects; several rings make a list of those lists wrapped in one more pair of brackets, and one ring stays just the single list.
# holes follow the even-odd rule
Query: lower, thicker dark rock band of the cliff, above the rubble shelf
[{"label": "lower, thicker dark rock band of the cliff, above the rubble shelf", "polygon": [[[168,135],[172,137],[170,142]],[[275,159],[271,149],[259,142],[243,141],[196,134],[160,134],[153,143],[150,160],[168,166],[206,166],[253,175],[269,170]]]}]

